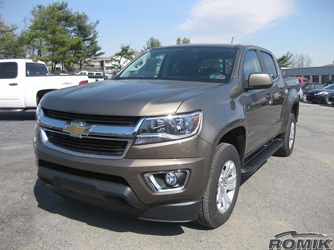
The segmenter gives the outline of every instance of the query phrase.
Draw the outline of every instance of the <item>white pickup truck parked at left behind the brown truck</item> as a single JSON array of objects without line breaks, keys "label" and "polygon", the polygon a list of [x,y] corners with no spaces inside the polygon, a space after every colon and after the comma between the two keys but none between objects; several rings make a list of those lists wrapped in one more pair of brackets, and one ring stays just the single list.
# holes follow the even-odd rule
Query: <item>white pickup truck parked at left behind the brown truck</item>
[{"label": "white pickup truck parked at left behind the brown truck", "polygon": [[85,75],[50,75],[38,60],[0,60],[0,109],[33,109],[47,92],[93,81]]}]

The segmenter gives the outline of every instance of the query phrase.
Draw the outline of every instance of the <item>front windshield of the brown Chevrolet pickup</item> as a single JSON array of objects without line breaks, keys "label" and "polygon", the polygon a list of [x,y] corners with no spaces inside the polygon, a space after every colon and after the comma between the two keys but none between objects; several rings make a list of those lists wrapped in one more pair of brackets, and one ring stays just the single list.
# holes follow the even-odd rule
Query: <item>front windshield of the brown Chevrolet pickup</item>
[{"label": "front windshield of the brown Chevrolet pickup", "polygon": [[131,62],[116,79],[163,79],[229,82],[234,48],[158,48]]}]

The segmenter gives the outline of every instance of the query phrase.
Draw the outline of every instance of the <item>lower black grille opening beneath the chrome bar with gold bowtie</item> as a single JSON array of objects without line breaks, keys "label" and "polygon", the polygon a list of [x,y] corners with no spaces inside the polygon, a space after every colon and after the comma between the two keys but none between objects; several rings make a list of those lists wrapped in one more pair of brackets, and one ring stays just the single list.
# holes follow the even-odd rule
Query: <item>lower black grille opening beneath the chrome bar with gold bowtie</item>
[{"label": "lower black grille opening beneath the chrome bar with gold bowtie", "polygon": [[47,130],[45,134],[48,136],[48,141],[55,146],[89,154],[122,156],[127,145],[127,141],[118,141],[110,138],[91,138],[85,136],[77,138],[69,136],[68,134]]}]

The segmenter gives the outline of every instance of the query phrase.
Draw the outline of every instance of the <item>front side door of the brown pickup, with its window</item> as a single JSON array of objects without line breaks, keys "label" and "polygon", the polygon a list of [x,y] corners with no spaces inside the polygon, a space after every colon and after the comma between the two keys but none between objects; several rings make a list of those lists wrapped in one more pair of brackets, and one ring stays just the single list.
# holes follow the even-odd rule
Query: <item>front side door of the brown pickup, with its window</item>
[{"label": "front side door of the brown pickup, with its window", "polygon": [[[242,83],[248,86],[249,75],[262,73],[263,67],[257,50],[248,50],[242,62]],[[268,140],[271,110],[269,89],[250,89],[244,92],[244,112],[247,121],[246,153],[254,151]]]}]

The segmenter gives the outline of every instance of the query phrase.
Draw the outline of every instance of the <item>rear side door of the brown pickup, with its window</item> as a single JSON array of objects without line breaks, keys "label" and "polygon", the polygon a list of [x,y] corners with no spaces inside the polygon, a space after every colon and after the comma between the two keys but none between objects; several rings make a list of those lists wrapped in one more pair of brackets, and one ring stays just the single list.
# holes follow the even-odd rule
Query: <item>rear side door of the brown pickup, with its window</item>
[{"label": "rear side door of the brown pickup, with its window", "polygon": [[269,109],[271,114],[269,138],[275,137],[281,129],[282,112],[286,92],[284,90],[284,80],[279,75],[278,66],[270,53],[261,51],[260,53],[264,72],[271,75],[273,86],[267,89],[269,97]]}]

